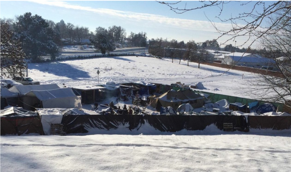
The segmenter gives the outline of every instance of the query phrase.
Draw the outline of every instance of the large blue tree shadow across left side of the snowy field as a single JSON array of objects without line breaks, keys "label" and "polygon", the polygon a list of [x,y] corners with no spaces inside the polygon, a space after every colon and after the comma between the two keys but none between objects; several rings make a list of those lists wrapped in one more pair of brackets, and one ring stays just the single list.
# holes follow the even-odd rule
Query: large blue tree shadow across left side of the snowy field
[{"label": "large blue tree shadow across left side of the snowy field", "polygon": [[77,66],[59,62],[29,63],[28,69],[35,69],[56,76],[65,76],[74,80],[91,77],[88,72],[78,69]]}]

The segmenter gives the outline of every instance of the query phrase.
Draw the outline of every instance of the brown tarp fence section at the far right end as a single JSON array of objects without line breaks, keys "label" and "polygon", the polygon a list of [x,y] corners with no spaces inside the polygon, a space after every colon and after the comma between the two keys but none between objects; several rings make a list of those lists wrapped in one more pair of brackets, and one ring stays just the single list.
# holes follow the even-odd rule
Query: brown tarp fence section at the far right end
[{"label": "brown tarp fence section at the far right end", "polygon": [[248,126],[254,129],[291,129],[291,116],[248,116]]}]

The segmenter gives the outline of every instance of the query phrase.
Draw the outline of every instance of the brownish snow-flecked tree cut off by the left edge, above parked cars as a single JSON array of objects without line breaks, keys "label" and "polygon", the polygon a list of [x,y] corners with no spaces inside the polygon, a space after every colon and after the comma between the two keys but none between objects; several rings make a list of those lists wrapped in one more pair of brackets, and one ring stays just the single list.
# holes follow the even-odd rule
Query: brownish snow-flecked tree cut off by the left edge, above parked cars
[{"label": "brownish snow-flecked tree cut off by the left edge, above parked cars", "polygon": [[25,54],[17,40],[13,40],[13,33],[7,23],[1,24],[1,76],[22,76],[25,69]]}]

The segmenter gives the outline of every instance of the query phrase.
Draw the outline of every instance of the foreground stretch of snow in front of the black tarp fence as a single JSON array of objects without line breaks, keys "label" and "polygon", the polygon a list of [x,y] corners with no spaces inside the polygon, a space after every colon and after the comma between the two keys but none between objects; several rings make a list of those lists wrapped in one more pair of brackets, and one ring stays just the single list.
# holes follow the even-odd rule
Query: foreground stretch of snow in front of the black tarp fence
[{"label": "foreground stretch of snow in front of the black tarp fence", "polygon": [[290,133],[160,134],[1,136],[1,171],[291,171]]}]

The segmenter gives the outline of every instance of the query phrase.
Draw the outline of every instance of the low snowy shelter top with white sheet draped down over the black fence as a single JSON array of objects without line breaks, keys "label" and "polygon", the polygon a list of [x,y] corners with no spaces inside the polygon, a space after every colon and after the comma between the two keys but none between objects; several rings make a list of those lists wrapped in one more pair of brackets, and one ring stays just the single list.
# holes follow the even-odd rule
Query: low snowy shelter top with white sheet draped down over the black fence
[{"label": "low snowy shelter top with white sheet draped down over the black fence", "polygon": [[51,125],[61,124],[63,115],[85,115],[76,108],[73,109],[37,109],[41,117],[43,132],[45,135],[51,135]]}]

